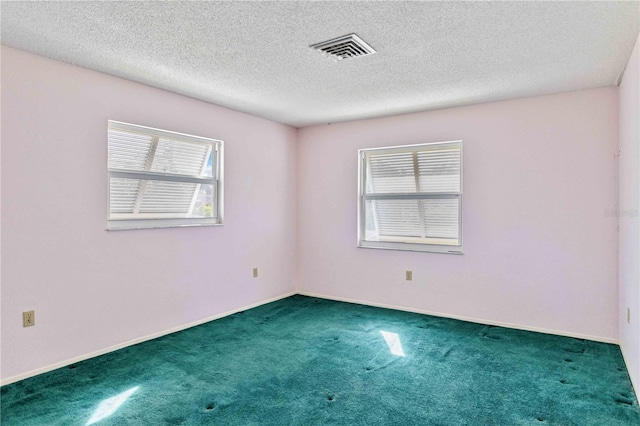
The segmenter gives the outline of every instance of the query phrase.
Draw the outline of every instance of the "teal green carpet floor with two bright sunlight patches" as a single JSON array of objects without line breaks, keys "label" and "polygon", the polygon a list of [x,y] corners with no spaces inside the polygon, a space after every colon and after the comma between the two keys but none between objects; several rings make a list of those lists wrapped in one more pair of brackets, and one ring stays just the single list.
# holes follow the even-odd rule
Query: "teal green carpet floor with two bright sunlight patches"
[{"label": "teal green carpet floor with two bright sunlight patches", "polygon": [[2,425],[640,425],[615,345],[293,296],[1,388]]}]

